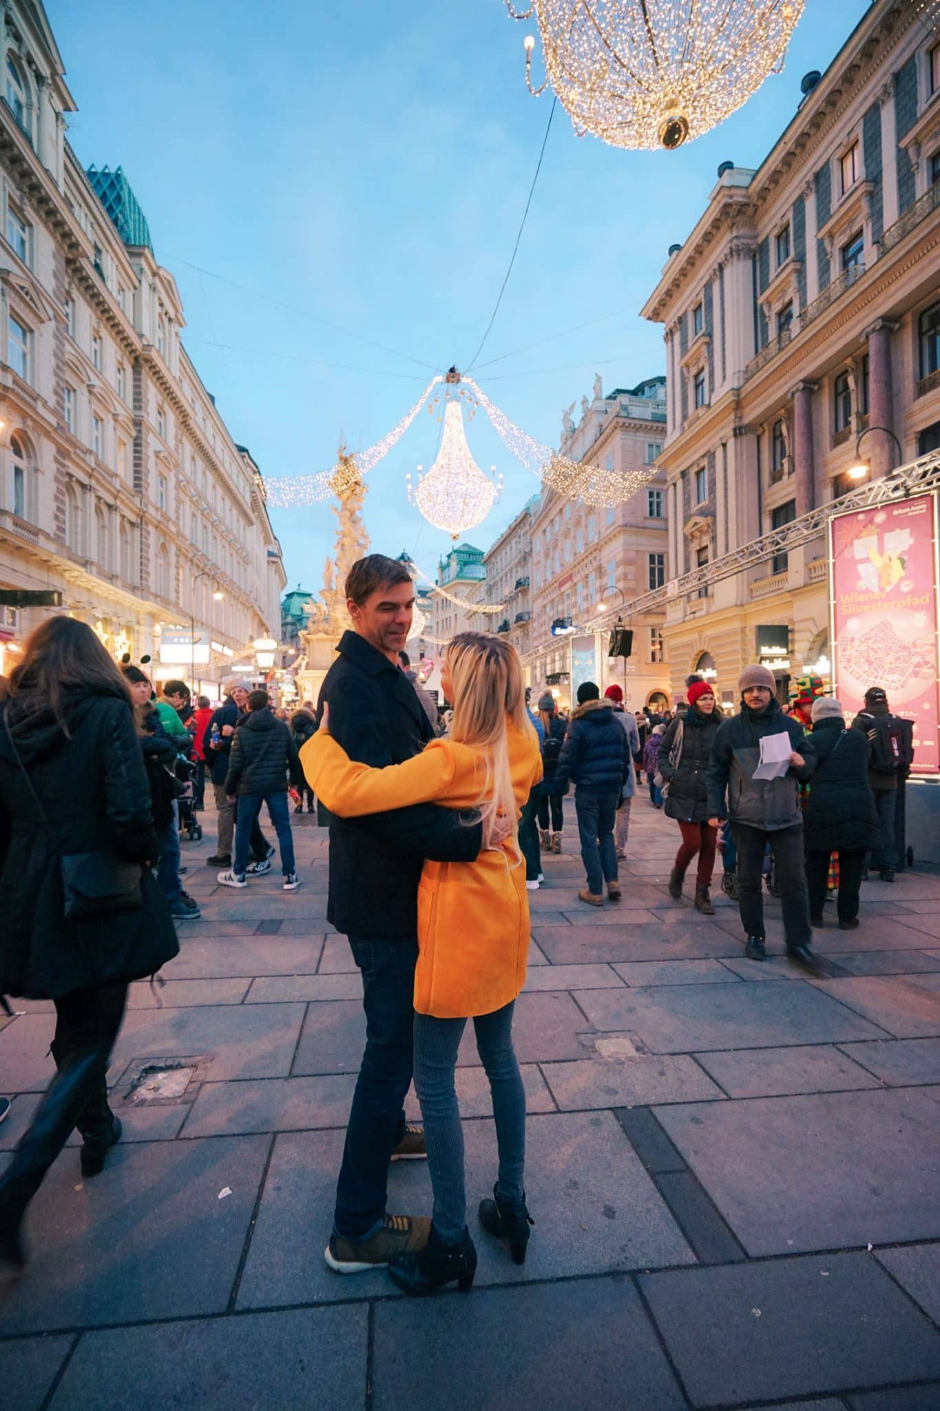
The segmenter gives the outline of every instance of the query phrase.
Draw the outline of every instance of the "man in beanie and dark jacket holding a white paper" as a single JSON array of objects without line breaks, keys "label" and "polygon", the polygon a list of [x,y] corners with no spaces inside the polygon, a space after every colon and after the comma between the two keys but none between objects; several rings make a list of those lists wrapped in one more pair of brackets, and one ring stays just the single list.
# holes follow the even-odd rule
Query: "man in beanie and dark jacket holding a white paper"
[{"label": "man in beanie and dark jacket holding a white paper", "polygon": [[[709,823],[730,818],[737,844],[737,882],[748,959],[767,958],[761,868],[769,842],[784,909],[786,954],[815,969],[809,892],[803,865],[803,811],[799,783],[813,772],[816,755],[809,735],[785,715],[774,694],[777,680],[765,666],[747,666],[738,682],[741,711],[722,721],[707,770]],[[789,746],[778,777],[755,777],[761,741],[786,737]]]}]

